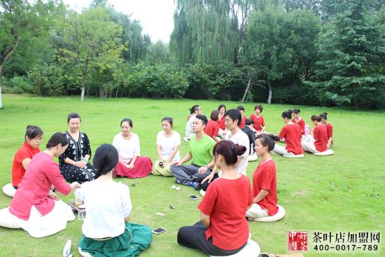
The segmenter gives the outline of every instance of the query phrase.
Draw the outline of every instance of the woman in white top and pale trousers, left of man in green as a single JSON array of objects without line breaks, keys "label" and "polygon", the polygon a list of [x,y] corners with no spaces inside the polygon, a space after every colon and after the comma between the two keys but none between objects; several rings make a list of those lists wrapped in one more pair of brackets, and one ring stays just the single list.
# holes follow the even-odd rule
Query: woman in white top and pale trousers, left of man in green
[{"label": "woman in white top and pale trousers, left of man in green", "polygon": [[170,170],[171,163],[181,160],[179,155],[181,135],[173,130],[172,123],[171,117],[162,118],[163,130],[156,137],[158,160],[151,172],[154,175],[173,176]]}]

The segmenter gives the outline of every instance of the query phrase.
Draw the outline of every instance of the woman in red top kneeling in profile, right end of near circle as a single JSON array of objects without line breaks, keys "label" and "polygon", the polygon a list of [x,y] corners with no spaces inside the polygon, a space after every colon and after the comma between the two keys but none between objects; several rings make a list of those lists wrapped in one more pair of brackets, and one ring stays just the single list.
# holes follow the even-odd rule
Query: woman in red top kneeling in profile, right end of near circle
[{"label": "woman in red top kneeling in profile, right end of near circle", "polygon": [[276,196],[276,167],[269,151],[274,140],[269,134],[259,134],[255,139],[255,152],[261,158],[253,173],[253,205],[246,212],[249,218],[273,216],[278,212]]}]

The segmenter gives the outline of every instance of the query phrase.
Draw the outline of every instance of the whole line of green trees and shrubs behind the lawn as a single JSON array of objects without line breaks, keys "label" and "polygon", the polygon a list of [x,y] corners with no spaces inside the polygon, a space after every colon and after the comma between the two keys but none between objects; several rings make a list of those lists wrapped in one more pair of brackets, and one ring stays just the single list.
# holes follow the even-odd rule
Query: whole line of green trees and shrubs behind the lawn
[{"label": "whole line of green trees and shrubs behind the lawn", "polygon": [[385,107],[385,0],[176,0],[169,43],[105,0],[0,0],[0,25],[0,108],[1,90]]}]

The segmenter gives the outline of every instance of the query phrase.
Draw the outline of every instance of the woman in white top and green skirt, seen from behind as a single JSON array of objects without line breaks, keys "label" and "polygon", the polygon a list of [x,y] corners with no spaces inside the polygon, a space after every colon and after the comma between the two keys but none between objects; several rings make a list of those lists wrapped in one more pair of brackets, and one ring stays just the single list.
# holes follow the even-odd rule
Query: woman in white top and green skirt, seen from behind
[{"label": "woman in white top and green skirt, seen from behind", "polygon": [[118,161],[118,151],[111,144],[99,146],[94,155],[95,180],[81,186],[87,211],[79,242],[82,256],[85,252],[91,256],[137,256],[150,247],[151,228],[129,223],[130,189],[112,179]]}]

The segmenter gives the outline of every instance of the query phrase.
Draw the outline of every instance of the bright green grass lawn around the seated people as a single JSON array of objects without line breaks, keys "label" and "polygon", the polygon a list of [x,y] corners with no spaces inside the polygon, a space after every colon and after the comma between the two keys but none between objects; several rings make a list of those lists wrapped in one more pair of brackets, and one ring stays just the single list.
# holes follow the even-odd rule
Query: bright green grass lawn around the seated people
[{"label": "bright green grass lawn around the seated people", "polygon": [[[188,109],[197,103],[209,116],[222,102],[195,101],[189,99],[106,99],[80,97],[32,97],[27,95],[3,95],[4,109],[0,110],[0,185],[10,183],[13,155],[22,145],[25,127],[38,125],[45,134],[41,149],[54,132],[66,130],[66,116],[76,111],[83,123],[80,130],[90,138],[92,151],[97,146],[112,142],[120,132],[120,120],[132,118],[133,132],[141,139],[141,155],[156,160],[156,134],[162,129],[163,116],[174,118],[174,128],[184,134]],[[236,102],[223,102],[228,109]],[[244,104],[247,116],[254,104]],[[281,113],[298,106],[264,105],[262,115],[267,131],[279,133],[283,126]],[[329,113],[330,123],[335,127],[333,150],[335,155],[317,157],[305,154],[304,158],[283,158],[274,155],[277,166],[278,202],[286,209],[286,216],[276,223],[250,222],[253,239],[262,251],[285,253],[286,232],[309,230],[320,232],[385,232],[385,113],[375,111],[353,112],[348,109],[326,109],[300,106],[301,115],[307,123],[312,114]],[[186,154],[187,144],[182,143],[181,156]],[[248,177],[258,165],[250,162]],[[199,219],[197,204],[187,195],[197,194],[193,188],[182,186],[172,190],[173,178],[148,176],[143,179],[118,179],[130,186],[134,209],[132,222],[144,223],[151,228],[160,226],[168,231],[153,237],[151,248],[141,256],[204,256],[176,243],[176,234],[182,225],[192,225]],[[136,186],[132,186],[132,182]],[[199,194],[198,194],[199,195]],[[201,197],[202,198],[202,197]],[[73,194],[62,197],[73,200]],[[0,208],[7,207],[10,198],[0,193]],[[169,204],[176,209],[169,209]],[[231,203],[229,203],[231,204]],[[165,216],[155,213],[162,212]],[[62,256],[62,247],[67,239],[72,240],[73,255],[81,236],[81,221],[69,222],[66,230],[34,239],[24,230],[0,228],[0,256]],[[310,237],[310,235],[309,235]],[[384,240],[381,240],[384,242]],[[309,238],[311,242],[311,238]],[[384,244],[382,244],[384,245]],[[304,253],[318,256],[319,253]],[[338,254],[337,256],[350,256]],[[363,256],[358,253],[355,256]],[[336,256],[325,253],[322,256]],[[385,251],[371,256],[385,256]]]}]

